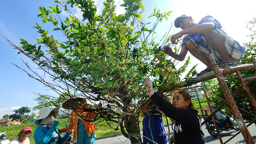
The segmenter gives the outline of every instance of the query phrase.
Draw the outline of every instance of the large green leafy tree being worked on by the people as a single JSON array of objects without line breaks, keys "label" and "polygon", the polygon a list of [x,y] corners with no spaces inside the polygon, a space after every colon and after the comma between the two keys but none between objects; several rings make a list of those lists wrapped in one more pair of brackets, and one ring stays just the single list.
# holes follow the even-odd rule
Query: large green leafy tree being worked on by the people
[{"label": "large green leafy tree being worked on by the people", "polygon": [[[170,35],[166,33],[160,41],[154,41],[157,25],[163,19],[168,20],[171,11],[161,13],[155,8],[149,16],[155,19],[145,22],[142,0],[124,0],[121,6],[126,12],[120,15],[115,12],[113,0],[103,2],[104,9],[99,15],[92,0],[68,0],[66,5],[57,0],[55,2],[58,5],[49,9],[39,7],[38,16],[42,18],[42,23],[51,22],[54,26],[52,30],[64,35],[65,41],[48,36],[49,32],[36,23],[34,28],[41,35],[36,39],[37,44],[21,39],[21,47],[13,45],[53,81],[47,81],[46,75],[39,75],[26,62],[32,73],[22,70],[59,95],[66,93],[68,98],[86,98],[94,109],[84,110],[98,114],[92,121],[102,118],[106,122],[117,123],[116,127],[110,126],[115,130],[121,128],[123,135],[132,143],[141,142],[141,138],[137,139],[132,134],[140,133],[139,112],[148,103],[143,79],[151,78],[156,91],[164,96],[168,93],[165,89],[177,83],[177,75],[186,71],[189,64],[188,59],[177,71],[173,67],[165,67],[167,62],[160,57],[166,55],[161,47],[170,42]],[[59,6],[69,13],[67,18],[61,18]],[[69,11],[74,6],[81,9],[82,21]],[[176,52],[179,50],[174,49]],[[160,77],[164,71],[173,71],[175,75]],[[186,80],[189,81],[195,74],[193,67]],[[73,92],[75,95],[71,95]],[[55,100],[46,96],[36,100],[44,104],[46,99]],[[96,109],[98,103],[102,103],[100,109]],[[117,110],[111,109],[113,107]]]}]

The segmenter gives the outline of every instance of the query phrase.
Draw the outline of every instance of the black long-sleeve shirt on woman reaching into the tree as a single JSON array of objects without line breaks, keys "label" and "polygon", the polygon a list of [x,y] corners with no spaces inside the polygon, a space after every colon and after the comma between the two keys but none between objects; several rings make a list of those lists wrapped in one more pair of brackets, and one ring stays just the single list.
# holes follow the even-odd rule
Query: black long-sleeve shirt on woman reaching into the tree
[{"label": "black long-sleeve shirt on woman reaching into the tree", "polygon": [[150,100],[158,105],[167,117],[176,121],[175,144],[204,144],[204,133],[197,110],[176,108],[157,92],[150,97]]}]

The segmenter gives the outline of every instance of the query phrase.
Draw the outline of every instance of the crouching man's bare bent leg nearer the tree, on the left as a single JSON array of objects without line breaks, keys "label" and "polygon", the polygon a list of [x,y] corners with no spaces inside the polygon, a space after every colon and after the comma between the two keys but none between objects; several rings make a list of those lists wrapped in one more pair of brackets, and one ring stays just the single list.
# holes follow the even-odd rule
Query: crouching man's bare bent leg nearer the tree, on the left
[{"label": "crouching man's bare bent leg nearer the tree, on the left", "polygon": [[195,56],[198,60],[200,60],[203,64],[205,64],[207,66],[206,69],[204,69],[203,71],[201,71],[201,73],[197,74],[197,75],[202,75],[204,73],[207,73],[208,71],[213,70],[213,68],[211,67],[211,63],[210,61],[206,58],[206,56],[203,55],[202,52],[200,52],[195,43],[191,40],[187,40],[185,43],[186,48],[188,49],[188,51]]}]

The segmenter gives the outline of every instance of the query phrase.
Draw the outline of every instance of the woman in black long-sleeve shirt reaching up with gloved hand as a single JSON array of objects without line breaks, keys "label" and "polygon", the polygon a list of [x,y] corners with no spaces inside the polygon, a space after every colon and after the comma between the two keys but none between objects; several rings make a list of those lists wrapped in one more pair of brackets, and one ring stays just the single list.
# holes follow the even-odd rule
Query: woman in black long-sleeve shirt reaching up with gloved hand
[{"label": "woman in black long-sleeve shirt reaching up with gloved hand", "polygon": [[176,121],[175,144],[204,144],[201,118],[194,109],[191,96],[184,91],[175,92],[171,104],[153,90],[150,79],[145,79],[144,84],[150,100],[158,105],[167,117]]}]

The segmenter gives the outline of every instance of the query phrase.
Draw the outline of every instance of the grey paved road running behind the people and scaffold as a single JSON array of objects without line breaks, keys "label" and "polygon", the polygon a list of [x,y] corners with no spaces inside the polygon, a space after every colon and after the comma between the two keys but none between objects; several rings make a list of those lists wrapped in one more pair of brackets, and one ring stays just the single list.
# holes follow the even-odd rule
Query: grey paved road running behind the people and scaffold
[{"label": "grey paved road running behind the people and scaffold", "polygon": [[[220,144],[220,140],[217,138],[211,136],[207,129],[206,126],[202,126],[203,132],[204,132],[204,139],[206,144]],[[256,143],[256,126],[255,124],[252,124],[248,127],[252,138],[254,139],[254,142]],[[166,132],[168,133],[168,128],[165,127]],[[235,130],[231,131],[223,131],[221,133],[221,138],[222,141],[225,142],[228,140],[230,137],[235,135]],[[142,134],[142,132],[141,132]],[[173,130],[170,128],[170,135],[173,135]],[[106,139],[101,139],[101,140],[96,140],[95,144],[131,144],[130,140],[127,139],[124,136],[118,136],[118,137],[113,137],[113,138],[106,138]],[[245,144],[244,138],[242,134],[238,134],[235,138],[231,139],[227,144]]]}]

